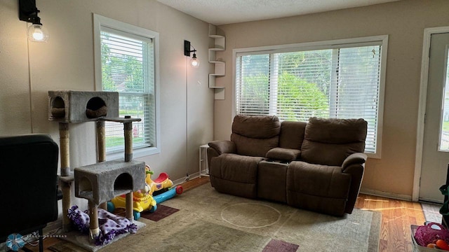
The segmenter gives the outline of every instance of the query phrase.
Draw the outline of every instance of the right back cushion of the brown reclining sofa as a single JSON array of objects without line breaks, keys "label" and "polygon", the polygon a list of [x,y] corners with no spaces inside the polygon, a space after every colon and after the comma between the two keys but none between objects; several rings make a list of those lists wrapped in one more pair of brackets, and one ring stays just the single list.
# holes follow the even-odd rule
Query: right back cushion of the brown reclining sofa
[{"label": "right back cushion of the brown reclining sofa", "polygon": [[341,166],[352,153],[365,151],[368,123],[363,119],[309,118],[301,146],[301,160]]}]

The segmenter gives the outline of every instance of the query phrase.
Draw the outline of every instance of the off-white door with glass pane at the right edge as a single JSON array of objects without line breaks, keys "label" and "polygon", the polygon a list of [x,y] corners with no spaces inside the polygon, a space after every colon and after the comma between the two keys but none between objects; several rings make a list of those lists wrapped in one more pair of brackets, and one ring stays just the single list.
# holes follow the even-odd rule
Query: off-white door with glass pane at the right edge
[{"label": "off-white door with glass pane at the right edge", "polygon": [[420,200],[438,203],[449,164],[448,48],[449,33],[431,35]]}]

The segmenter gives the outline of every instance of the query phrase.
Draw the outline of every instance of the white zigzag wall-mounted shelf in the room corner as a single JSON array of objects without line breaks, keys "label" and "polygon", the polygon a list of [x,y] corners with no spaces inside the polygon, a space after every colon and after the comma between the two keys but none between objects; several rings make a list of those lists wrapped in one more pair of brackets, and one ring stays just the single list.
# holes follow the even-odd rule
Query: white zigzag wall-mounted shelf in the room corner
[{"label": "white zigzag wall-mounted shelf in the room corner", "polygon": [[209,74],[209,88],[215,91],[215,99],[225,99],[225,87],[217,87],[215,79],[226,74],[226,63],[217,59],[215,52],[226,49],[226,38],[217,31],[215,25],[209,25],[209,38],[213,38],[213,45],[209,48],[209,63],[214,64],[213,73]]}]

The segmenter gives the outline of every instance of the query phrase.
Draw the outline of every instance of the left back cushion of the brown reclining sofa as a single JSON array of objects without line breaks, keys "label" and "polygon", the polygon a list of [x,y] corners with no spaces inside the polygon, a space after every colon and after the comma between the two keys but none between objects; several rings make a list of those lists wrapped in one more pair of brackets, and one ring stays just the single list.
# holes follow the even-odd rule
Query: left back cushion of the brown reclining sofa
[{"label": "left back cushion of the brown reclining sofa", "polygon": [[264,157],[267,151],[278,146],[281,123],[276,116],[237,115],[232,123],[231,141],[236,153]]}]

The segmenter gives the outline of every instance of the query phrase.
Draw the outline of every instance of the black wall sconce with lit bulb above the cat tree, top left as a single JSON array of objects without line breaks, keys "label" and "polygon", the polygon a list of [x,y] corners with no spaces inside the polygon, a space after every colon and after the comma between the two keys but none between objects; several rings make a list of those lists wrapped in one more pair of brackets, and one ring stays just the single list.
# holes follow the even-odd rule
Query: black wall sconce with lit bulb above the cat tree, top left
[{"label": "black wall sconce with lit bulb above the cat tree, top left", "polygon": [[36,0],[19,0],[19,19],[32,23],[27,29],[29,41],[46,42],[48,40],[48,33],[42,27],[41,18],[37,16],[40,11],[36,8]]}]

